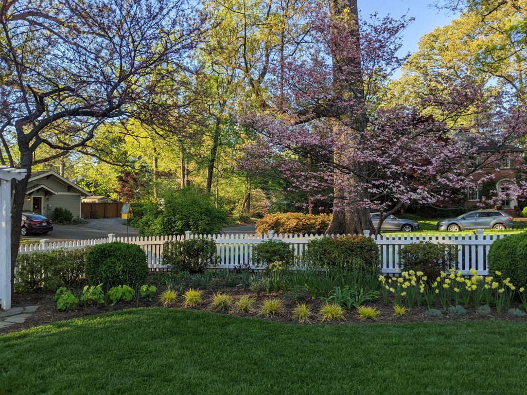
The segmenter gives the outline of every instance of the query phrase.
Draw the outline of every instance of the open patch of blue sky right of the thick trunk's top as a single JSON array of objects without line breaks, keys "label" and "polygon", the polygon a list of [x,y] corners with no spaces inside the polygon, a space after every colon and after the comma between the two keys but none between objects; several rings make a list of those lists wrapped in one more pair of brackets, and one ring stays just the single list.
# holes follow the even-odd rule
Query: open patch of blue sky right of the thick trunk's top
[{"label": "open patch of blue sky right of the thick trunk's top", "polygon": [[380,17],[390,14],[394,18],[404,14],[414,17],[415,21],[406,28],[402,52],[417,51],[419,38],[438,26],[449,24],[455,16],[446,10],[430,7],[434,0],[358,0],[363,17],[377,12]]}]

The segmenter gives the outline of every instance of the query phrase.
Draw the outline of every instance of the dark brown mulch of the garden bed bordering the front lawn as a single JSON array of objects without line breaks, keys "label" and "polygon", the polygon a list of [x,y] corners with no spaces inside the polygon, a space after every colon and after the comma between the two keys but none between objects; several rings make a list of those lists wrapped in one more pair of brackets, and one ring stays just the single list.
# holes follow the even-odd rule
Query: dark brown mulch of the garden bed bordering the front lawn
[{"label": "dark brown mulch of the garden bed bordering the front lawn", "polygon": [[[159,307],[161,303],[159,302],[159,295],[161,292],[165,289],[165,287],[161,286],[158,287],[158,293],[155,295],[155,297],[152,300],[147,299],[140,299],[139,301],[139,307]],[[241,295],[252,295],[255,296],[255,294],[252,294],[249,291],[243,290],[241,287],[230,287],[222,289],[221,292],[227,292],[230,293],[237,299]],[[203,299],[204,302],[199,305],[198,307],[192,308],[192,310],[211,310],[209,307],[211,298],[212,298],[213,291],[211,290],[205,290],[203,292]],[[123,310],[123,309],[129,309],[136,307],[135,301],[127,302],[127,303],[119,303],[116,305],[99,305],[99,306],[89,306],[89,307],[81,307],[78,310],[74,311],[58,311],[56,308],[56,303],[53,300],[54,293],[50,292],[39,292],[39,293],[30,293],[30,294],[15,294],[14,300],[13,300],[13,307],[25,307],[28,305],[38,305],[39,308],[36,312],[34,312],[31,317],[29,317],[26,322],[21,324],[13,324],[9,325],[9,327],[0,329],[0,334],[9,333],[18,331],[21,329],[26,328],[32,328],[37,325],[43,325],[48,324],[55,321],[61,321],[61,320],[67,320],[70,318],[76,318],[76,317],[84,317],[85,315],[93,315],[93,314],[100,314],[108,311],[116,311],[116,310]],[[281,298],[284,301],[284,305],[286,308],[286,314],[285,315],[277,315],[275,317],[271,318],[264,318],[271,321],[277,321],[277,322],[283,322],[283,323],[289,323],[289,324],[298,324],[298,322],[294,319],[292,316],[292,310],[296,307],[296,302],[292,301],[290,298],[288,298],[287,295],[284,295],[282,292],[277,293],[270,293],[270,294],[261,294],[260,297],[257,298],[256,301],[256,309],[258,309],[259,305],[261,304],[262,299],[269,298],[269,297],[275,297],[275,298]],[[313,317],[311,319],[312,323],[320,322],[320,317],[318,310],[323,303],[322,300],[310,300],[308,299],[306,303],[311,307],[311,311],[313,312]],[[378,319],[376,321],[364,321],[360,319],[357,315],[356,310],[352,309],[350,311],[346,312],[346,321],[338,321],[334,322],[333,324],[346,324],[346,323],[362,323],[362,324],[375,324],[375,323],[403,323],[403,322],[449,322],[449,321],[482,321],[482,320],[504,320],[504,321],[520,321],[520,322],[527,322],[527,318],[525,317],[516,317],[514,315],[509,314],[508,312],[502,312],[498,313],[494,309],[492,309],[492,312],[490,314],[478,314],[475,312],[474,308],[467,308],[467,314],[464,315],[456,315],[456,314],[448,314],[447,309],[438,308],[443,315],[441,317],[428,317],[424,315],[424,313],[427,311],[426,307],[420,307],[417,308],[414,306],[413,309],[407,310],[407,313],[403,315],[403,317],[396,317],[394,315],[393,307],[392,305],[385,305],[381,299],[379,299],[376,303],[369,303],[370,305],[376,306],[380,313],[378,315]],[[175,305],[175,307],[181,308],[182,307],[182,301],[181,298],[178,299],[178,303]],[[218,312],[219,314],[233,314],[232,312]],[[247,317],[255,317],[255,318],[261,318],[258,315],[257,311],[251,312],[246,314]]]}]

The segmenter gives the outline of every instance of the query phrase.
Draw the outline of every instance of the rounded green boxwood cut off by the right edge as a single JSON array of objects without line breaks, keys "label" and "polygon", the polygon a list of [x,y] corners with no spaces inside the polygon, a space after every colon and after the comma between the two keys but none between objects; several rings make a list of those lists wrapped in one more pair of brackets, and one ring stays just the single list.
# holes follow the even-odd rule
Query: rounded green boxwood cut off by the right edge
[{"label": "rounded green boxwood cut off by the right edge", "polygon": [[516,287],[527,285],[527,233],[511,234],[496,240],[489,251],[489,274],[496,271],[509,277]]}]

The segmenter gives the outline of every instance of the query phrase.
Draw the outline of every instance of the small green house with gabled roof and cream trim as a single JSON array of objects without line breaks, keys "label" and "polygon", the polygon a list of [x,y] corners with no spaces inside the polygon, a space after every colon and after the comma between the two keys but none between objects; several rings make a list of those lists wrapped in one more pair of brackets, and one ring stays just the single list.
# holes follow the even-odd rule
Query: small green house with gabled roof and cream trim
[{"label": "small green house with gabled roof and cream trim", "polygon": [[74,218],[80,217],[81,200],[90,195],[52,170],[32,172],[27,184],[24,212],[40,213],[53,220],[53,210],[61,207],[70,210]]}]

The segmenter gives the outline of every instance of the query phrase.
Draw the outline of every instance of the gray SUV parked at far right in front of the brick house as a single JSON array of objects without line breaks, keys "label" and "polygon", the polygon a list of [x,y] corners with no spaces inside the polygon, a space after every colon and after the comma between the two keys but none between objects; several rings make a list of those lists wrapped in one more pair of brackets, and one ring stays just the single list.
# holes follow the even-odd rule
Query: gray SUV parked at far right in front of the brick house
[{"label": "gray SUV parked at far right in front of the brick house", "polygon": [[478,210],[437,222],[437,230],[459,232],[467,229],[505,230],[514,227],[512,216],[499,210]]}]

